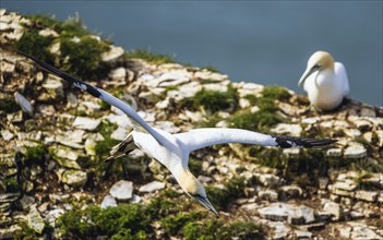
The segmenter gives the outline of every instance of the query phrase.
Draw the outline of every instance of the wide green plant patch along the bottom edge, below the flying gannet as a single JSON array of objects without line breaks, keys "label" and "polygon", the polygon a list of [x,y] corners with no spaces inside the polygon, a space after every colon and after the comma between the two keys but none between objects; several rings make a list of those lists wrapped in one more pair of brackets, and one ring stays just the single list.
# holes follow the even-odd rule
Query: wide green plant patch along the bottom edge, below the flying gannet
[{"label": "wide green plant patch along the bottom edge, below the flying gannet", "polygon": [[[228,187],[230,189],[228,191],[238,191],[232,188]],[[180,197],[183,197],[182,201]],[[187,196],[180,196],[173,190],[164,190],[147,205],[120,204],[105,209],[94,205],[85,209],[73,207],[59,218],[58,226],[63,231],[63,237],[75,239],[263,238],[262,228],[254,223],[239,220],[230,223],[211,218],[205,209],[202,212],[192,209],[191,203],[194,201],[184,197]],[[154,228],[155,225],[158,227]],[[157,230],[163,233],[157,236],[155,233]]]}]

